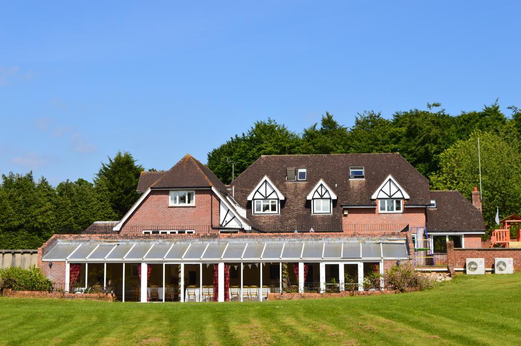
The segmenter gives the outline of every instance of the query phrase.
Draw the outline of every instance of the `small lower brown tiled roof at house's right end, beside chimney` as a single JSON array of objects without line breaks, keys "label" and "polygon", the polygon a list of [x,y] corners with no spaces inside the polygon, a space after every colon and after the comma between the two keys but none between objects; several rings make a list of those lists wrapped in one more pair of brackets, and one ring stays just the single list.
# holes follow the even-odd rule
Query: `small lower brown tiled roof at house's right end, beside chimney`
[{"label": "small lower brown tiled roof at house's right end, beside chimney", "polygon": [[430,191],[436,208],[427,208],[427,232],[484,232],[483,215],[459,191]]}]

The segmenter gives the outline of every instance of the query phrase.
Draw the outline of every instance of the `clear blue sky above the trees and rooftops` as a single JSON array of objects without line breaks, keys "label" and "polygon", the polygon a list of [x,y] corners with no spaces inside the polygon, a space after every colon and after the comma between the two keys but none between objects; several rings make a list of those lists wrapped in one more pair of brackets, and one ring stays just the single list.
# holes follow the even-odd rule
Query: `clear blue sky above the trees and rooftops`
[{"label": "clear blue sky above the trees and rooftops", "polygon": [[0,173],[168,169],[271,117],[521,107],[519,2],[4,2]]}]

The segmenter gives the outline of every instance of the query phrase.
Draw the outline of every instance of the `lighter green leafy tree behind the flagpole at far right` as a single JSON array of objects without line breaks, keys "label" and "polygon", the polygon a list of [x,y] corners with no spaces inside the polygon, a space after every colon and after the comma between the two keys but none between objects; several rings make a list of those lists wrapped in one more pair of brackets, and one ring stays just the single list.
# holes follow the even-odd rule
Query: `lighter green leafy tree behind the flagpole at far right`
[{"label": "lighter green leafy tree behind the flagpole at far right", "polygon": [[469,200],[474,186],[479,186],[478,137],[481,149],[483,219],[489,229],[500,217],[521,212],[521,152],[503,137],[475,131],[440,155],[440,170],[431,176],[436,189],[460,191]]}]

